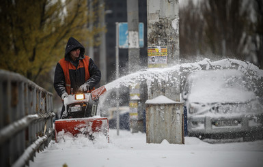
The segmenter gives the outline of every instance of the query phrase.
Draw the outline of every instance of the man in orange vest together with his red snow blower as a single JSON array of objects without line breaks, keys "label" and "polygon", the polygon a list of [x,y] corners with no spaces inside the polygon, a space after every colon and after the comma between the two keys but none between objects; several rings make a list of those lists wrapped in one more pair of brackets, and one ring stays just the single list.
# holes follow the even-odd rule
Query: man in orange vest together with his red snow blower
[{"label": "man in orange vest together with his red snow blower", "polygon": [[65,57],[55,69],[54,87],[63,102],[60,119],[55,121],[56,140],[59,132],[89,137],[94,132],[108,132],[107,118],[97,113],[98,96],[106,89],[102,86],[94,91],[100,82],[100,70],[84,52],[82,44],[70,37]]}]

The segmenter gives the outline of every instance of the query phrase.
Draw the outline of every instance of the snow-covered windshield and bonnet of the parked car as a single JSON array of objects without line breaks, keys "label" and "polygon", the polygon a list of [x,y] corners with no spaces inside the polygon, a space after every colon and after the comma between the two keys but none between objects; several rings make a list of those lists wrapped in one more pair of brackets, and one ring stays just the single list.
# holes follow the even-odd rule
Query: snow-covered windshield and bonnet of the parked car
[{"label": "snow-covered windshield and bonnet of the parked car", "polygon": [[189,76],[189,102],[245,103],[255,99],[242,72],[238,70],[207,70]]}]

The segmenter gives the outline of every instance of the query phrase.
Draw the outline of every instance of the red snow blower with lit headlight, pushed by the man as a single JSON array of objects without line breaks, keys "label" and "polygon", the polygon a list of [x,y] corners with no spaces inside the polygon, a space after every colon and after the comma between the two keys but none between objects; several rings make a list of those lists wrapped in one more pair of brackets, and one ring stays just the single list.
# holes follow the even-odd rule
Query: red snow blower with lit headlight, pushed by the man
[{"label": "red snow blower with lit headlight, pushed by the man", "polygon": [[104,134],[109,142],[109,121],[97,112],[98,97],[105,93],[104,86],[92,93],[71,94],[64,99],[65,111],[61,119],[55,121],[55,140],[59,141],[65,133],[72,136],[84,134],[94,140],[94,133]]}]

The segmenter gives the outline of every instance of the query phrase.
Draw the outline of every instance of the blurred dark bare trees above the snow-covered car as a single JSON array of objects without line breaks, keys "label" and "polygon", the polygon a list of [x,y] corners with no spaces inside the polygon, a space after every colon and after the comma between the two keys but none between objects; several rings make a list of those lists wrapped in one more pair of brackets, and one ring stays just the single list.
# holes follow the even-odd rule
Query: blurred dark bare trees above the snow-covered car
[{"label": "blurred dark bare trees above the snow-covered car", "polygon": [[258,0],[189,1],[180,9],[181,57],[236,58],[262,67],[262,8]]}]

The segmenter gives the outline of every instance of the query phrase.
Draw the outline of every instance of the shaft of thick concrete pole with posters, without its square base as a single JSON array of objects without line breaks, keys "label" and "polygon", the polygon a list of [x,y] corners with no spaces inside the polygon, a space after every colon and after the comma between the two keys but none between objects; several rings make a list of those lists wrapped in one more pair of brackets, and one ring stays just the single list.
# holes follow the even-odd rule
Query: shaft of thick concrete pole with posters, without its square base
[{"label": "shaft of thick concrete pole with posters, without its square base", "polygon": [[[165,67],[179,63],[179,1],[148,0],[148,67]],[[171,74],[162,83],[152,82],[149,99],[165,95],[180,101],[180,76]]]}]

